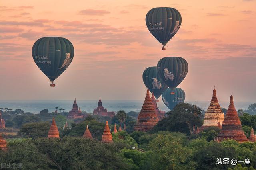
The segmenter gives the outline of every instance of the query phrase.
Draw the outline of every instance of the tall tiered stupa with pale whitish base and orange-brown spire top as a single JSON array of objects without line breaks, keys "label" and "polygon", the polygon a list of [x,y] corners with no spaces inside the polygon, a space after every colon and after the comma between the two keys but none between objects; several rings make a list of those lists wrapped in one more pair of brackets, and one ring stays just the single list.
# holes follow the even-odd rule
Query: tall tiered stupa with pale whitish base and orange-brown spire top
[{"label": "tall tiered stupa with pale whitish base and orange-brown spire top", "polygon": [[212,100],[207,111],[204,114],[204,124],[200,127],[200,131],[208,127],[219,127],[221,129],[222,122],[224,121],[224,113],[220,107],[214,88],[212,92]]}]

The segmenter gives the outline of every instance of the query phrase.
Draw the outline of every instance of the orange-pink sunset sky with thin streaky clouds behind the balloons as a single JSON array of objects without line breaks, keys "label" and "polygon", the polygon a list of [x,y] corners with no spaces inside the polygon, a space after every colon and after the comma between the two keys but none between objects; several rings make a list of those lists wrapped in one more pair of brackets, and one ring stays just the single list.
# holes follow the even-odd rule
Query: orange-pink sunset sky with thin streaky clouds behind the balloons
[{"label": "orange-pink sunset sky with thin streaky clouds behind the balloons", "polygon": [[[182,25],[166,51],[146,13],[176,8]],[[0,0],[0,100],[143,100],[143,71],[162,57],[188,62],[178,86],[186,101],[256,101],[256,0]],[[74,45],[74,59],[50,87],[32,59],[40,37]]]}]

